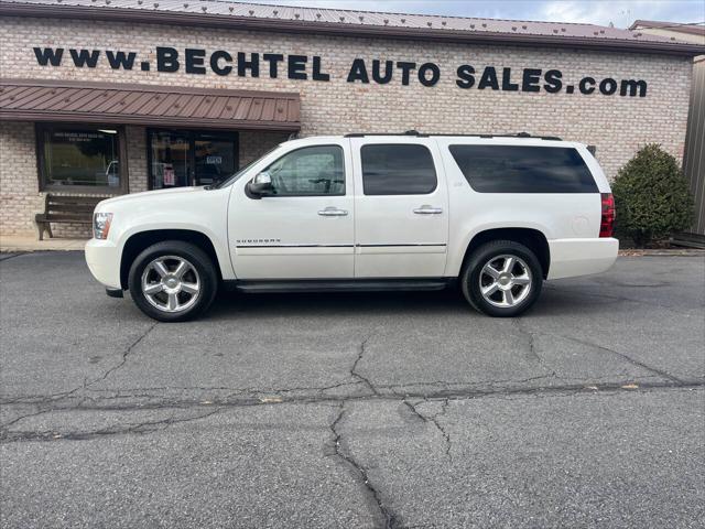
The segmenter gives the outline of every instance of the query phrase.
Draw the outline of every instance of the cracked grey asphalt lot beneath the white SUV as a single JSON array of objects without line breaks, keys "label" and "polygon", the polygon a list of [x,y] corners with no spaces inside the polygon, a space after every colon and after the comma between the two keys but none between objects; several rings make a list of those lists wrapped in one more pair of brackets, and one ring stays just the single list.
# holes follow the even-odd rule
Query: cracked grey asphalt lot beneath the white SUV
[{"label": "cracked grey asphalt lot beneath the white SUV", "polygon": [[155,324],[0,256],[4,528],[705,527],[705,259],[516,320],[455,292],[229,294]]}]

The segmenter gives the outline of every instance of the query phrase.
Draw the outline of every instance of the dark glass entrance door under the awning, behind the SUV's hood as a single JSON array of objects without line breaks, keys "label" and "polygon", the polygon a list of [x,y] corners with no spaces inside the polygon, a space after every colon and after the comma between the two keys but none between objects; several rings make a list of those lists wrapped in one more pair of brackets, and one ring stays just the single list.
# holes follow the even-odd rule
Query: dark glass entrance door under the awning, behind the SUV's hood
[{"label": "dark glass entrance door under the awning, behind the SUV's hood", "polygon": [[150,188],[210,185],[238,168],[237,132],[150,130]]}]

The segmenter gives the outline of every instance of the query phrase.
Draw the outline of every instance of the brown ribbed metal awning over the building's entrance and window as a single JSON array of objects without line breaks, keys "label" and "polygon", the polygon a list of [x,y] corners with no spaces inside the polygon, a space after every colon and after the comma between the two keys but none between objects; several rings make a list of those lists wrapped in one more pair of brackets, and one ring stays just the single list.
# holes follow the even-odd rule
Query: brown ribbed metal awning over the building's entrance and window
[{"label": "brown ribbed metal awning over the building's entrance and window", "polygon": [[299,94],[0,79],[0,119],[296,131]]}]

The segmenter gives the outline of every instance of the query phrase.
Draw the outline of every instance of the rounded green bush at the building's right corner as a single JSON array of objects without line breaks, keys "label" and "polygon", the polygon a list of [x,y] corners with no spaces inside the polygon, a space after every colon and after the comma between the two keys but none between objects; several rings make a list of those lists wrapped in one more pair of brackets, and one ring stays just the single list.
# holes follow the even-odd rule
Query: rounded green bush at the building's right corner
[{"label": "rounded green bush at the building's right corner", "polygon": [[617,173],[611,185],[617,236],[637,246],[691,226],[693,196],[675,158],[655,143],[644,145]]}]

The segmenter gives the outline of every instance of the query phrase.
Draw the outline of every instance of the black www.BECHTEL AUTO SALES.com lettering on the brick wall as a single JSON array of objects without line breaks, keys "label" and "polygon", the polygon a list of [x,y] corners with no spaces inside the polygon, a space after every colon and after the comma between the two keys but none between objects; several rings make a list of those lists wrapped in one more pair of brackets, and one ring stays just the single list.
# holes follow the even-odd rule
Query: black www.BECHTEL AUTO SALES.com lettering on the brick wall
[{"label": "black www.BECHTEL AUTO SALES.com lettering on the brick wall", "polygon": [[[34,55],[42,66],[61,66],[65,58],[63,47],[35,47]],[[102,55],[105,53],[105,55]],[[112,69],[141,69],[149,72],[184,72],[205,75],[208,71],[219,76],[239,77],[285,76],[289,79],[329,82],[324,61],[318,55],[284,55],[281,53],[229,53],[225,50],[208,52],[203,48],[176,50],[158,46],[153,63],[138,61],[135,52],[69,48],[68,55],[77,68],[95,68],[99,61],[106,61]],[[647,82],[642,79],[617,79],[614,77],[584,76],[579,79],[564,78],[560,69],[510,68],[495,65],[459,64],[452,74],[442,72],[441,66],[412,61],[388,61],[381,58],[355,58],[347,69],[346,82],[350,84],[400,84],[409,86],[435,86],[444,75],[453,75],[460,89],[524,91],[558,94],[619,94],[629,97],[646,97]]]}]

